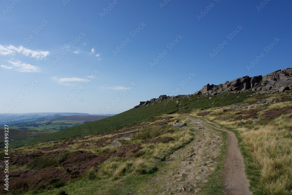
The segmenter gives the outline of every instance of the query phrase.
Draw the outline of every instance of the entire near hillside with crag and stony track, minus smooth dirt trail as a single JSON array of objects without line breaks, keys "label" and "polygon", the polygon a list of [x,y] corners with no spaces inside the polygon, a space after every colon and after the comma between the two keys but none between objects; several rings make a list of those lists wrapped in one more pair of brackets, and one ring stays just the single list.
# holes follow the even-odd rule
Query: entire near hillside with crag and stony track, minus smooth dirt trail
[{"label": "entire near hillside with crag and stony track, minus smooth dirt trail", "polygon": [[[13,192],[223,194],[228,139],[222,132],[210,134],[211,127],[199,120],[206,117],[236,134],[254,194],[292,194],[292,86],[286,85],[291,75],[280,71],[252,88],[244,77],[227,86],[205,86],[197,94],[162,95],[124,113],[20,143],[11,153],[11,185],[19,187]],[[173,128],[175,119],[187,128]],[[134,132],[114,135],[129,131]],[[188,143],[192,147],[180,150],[184,153],[170,156]],[[172,163],[184,166],[178,169]],[[190,164],[193,169],[186,168]],[[185,181],[191,175],[198,176],[188,180],[190,185]]]}]

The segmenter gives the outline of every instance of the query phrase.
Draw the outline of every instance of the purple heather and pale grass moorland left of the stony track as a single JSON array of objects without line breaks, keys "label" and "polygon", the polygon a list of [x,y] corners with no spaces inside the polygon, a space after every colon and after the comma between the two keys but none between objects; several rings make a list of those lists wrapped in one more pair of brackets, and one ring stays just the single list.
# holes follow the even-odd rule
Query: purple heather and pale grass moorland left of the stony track
[{"label": "purple heather and pale grass moorland left of the stony track", "polygon": [[[145,124],[147,127],[136,127],[135,134],[127,135],[132,140],[121,139],[123,135],[113,137],[115,132],[107,132],[63,140],[54,145],[46,142],[15,149],[10,152],[10,192],[57,194],[60,187],[73,185],[73,189],[66,191],[80,194],[80,183],[86,187],[95,181],[93,189],[85,189],[86,194],[113,194],[117,189],[105,188],[104,182],[109,184],[124,176],[152,173],[168,154],[191,141],[190,130],[171,129],[173,122],[163,126],[152,124],[162,121],[157,118]],[[120,132],[126,131],[127,128]],[[109,147],[115,139],[123,146]],[[0,157],[3,156],[4,152],[0,152]],[[4,188],[0,193],[5,194]]]}]

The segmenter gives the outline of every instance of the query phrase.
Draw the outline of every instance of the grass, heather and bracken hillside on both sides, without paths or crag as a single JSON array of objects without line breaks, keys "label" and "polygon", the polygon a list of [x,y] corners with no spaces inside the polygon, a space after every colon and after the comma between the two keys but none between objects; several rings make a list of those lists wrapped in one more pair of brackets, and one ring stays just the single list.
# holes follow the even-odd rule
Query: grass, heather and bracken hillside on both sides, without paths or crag
[{"label": "grass, heather and bracken hillside on both sides, without paths or crag", "polygon": [[[23,142],[20,145],[25,147],[10,152],[13,157],[11,186],[18,187],[15,194],[21,191],[57,194],[60,187],[70,192],[77,192],[80,188],[82,191],[90,189],[90,193],[98,190],[101,194],[135,194],[128,188],[134,181],[136,185],[142,185],[152,177],[151,173],[161,160],[192,139],[189,129],[172,129],[174,120],[164,120],[171,114],[175,118],[203,116],[234,131],[254,194],[292,194],[291,95],[287,92],[250,94],[252,92],[224,93],[211,96],[211,99],[210,96],[192,96],[180,98],[178,103],[177,99],[156,102]],[[257,105],[257,101],[270,99],[277,103],[221,112],[235,103]],[[197,111],[199,108],[205,110]],[[254,124],[256,118],[260,121]],[[184,122],[183,118],[180,121]],[[157,125],[161,122],[168,125]],[[131,141],[121,139],[123,135],[112,136],[130,130],[136,130],[129,135],[133,138]],[[109,148],[115,139],[119,139],[123,146]],[[58,143],[52,145],[39,141]],[[3,156],[4,153],[0,152],[0,158]],[[77,194],[81,194],[80,190]]]}]

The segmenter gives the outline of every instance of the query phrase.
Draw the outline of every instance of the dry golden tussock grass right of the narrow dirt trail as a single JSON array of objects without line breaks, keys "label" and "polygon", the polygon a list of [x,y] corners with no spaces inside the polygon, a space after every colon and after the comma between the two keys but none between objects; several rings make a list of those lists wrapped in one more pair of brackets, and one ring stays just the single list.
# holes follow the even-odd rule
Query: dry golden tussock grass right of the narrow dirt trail
[{"label": "dry golden tussock grass right of the narrow dirt trail", "polygon": [[[281,112],[291,105],[281,102],[227,112],[218,108],[206,116],[236,132],[253,194],[292,194],[292,117],[291,113]],[[255,118],[243,119],[248,118],[245,113],[252,113],[260,122],[253,124]]]}]

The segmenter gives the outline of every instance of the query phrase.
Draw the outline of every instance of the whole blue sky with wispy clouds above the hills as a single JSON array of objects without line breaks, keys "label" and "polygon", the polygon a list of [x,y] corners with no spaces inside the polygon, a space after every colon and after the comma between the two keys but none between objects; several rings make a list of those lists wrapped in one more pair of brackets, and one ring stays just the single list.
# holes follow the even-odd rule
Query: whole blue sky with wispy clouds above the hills
[{"label": "whole blue sky with wispy clouds above the hills", "polygon": [[162,94],[289,68],[291,7],[2,0],[0,113],[115,114]]}]

